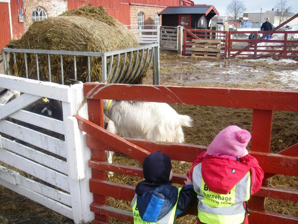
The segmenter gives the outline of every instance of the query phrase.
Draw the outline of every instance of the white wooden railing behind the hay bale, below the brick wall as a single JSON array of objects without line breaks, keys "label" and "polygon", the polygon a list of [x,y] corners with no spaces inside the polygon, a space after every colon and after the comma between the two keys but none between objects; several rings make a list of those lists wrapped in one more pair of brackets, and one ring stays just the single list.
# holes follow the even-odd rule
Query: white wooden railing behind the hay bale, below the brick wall
[{"label": "white wooden railing behind the hay bale, below the brick wall", "polygon": [[160,25],[126,25],[140,44],[159,43]]}]

